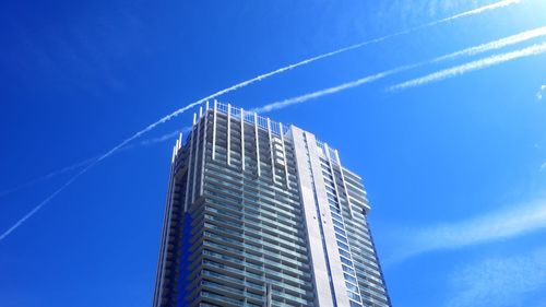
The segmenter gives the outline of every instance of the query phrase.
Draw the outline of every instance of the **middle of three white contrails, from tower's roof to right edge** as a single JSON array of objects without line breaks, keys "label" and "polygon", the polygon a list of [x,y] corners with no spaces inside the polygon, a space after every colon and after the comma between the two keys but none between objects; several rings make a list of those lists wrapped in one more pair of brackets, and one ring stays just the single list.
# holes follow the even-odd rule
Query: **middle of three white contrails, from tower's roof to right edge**
[{"label": "middle of three white contrails, from tower's roof to right edge", "polygon": [[284,99],[284,101],[280,101],[280,102],[274,102],[274,103],[271,103],[271,104],[266,104],[264,106],[254,108],[252,110],[256,111],[256,113],[268,113],[268,111],[272,111],[272,110],[276,110],[276,109],[282,109],[282,108],[285,108],[285,107],[288,107],[288,106],[292,106],[292,105],[297,105],[297,104],[305,103],[305,102],[310,101],[310,99],[316,99],[316,98],[319,98],[319,97],[322,97],[322,96],[325,96],[325,95],[332,95],[332,94],[335,94],[337,92],[342,92],[342,91],[345,91],[345,90],[348,90],[348,88],[360,86],[363,84],[366,84],[366,83],[369,83],[369,82],[373,82],[373,81],[377,81],[379,79],[382,79],[382,78],[385,78],[385,76],[389,76],[389,75],[392,75],[392,74],[401,73],[403,71],[411,70],[411,69],[414,69],[414,68],[418,68],[418,67],[423,67],[423,66],[426,66],[426,64],[431,64],[431,63],[436,63],[436,62],[440,62],[440,61],[444,61],[444,60],[453,60],[453,59],[456,59],[456,58],[460,58],[460,57],[467,57],[467,56],[478,55],[478,54],[482,54],[482,52],[486,52],[486,51],[499,49],[499,48],[502,48],[502,47],[507,47],[507,46],[510,46],[510,45],[514,45],[514,44],[518,44],[518,43],[522,43],[522,42],[525,42],[525,40],[529,40],[529,39],[532,39],[532,38],[536,38],[536,37],[539,37],[539,36],[545,36],[545,35],[546,35],[546,26],[534,28],[534,29],[530,29],[530,31],[525,31],[525,32],[522,32],[522,33],[519,33],[519,34],[515,34],[515,35],[512,35],[512,36],[508,36],[508,37],[505,37],[505,38],[500,38],[500,39],[497,39],[497,40],[494,40],[494,42],[489,42],[489,43],[486,43],[486,44],[482,44],[482,45],[477,45],[477,46],[474,46],[474,47],[465,48],[463,50],[455,51],[455,52],[452,52],[452,54],[449,54],[449,55],[446,55],[446,56],[437,57],[437,58],[434,58],[434,59],[428,60],[428,61],[423,61],[423,62],[418,62],[418,63],[414,63],[414,64],[402,66],[402,67],[399,67],[399,68],[395,68],[395,69],[391,69],[391,70],[383,71],[383,72],[379,72],[379,73],[376,73],[376,74],[372,74],[372,75],[367,75],[367,76],[360,78],[360,79],[355,80],[355,81],[346,82],[346,83],[343,83],[343,84],[340,84],[340,85],[336,85],[336,86],[332,86],[332,87],[319,90],[319,91],[316,91],[316,92],[312,92],[312,93],[307,93],[307,94],[304,94],[304,95],[300,95],[300,96],[296,96],[296,97],[287,98],[287,99]]}]

